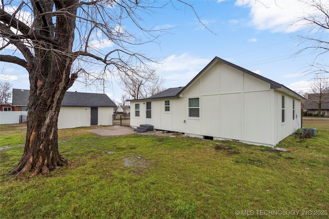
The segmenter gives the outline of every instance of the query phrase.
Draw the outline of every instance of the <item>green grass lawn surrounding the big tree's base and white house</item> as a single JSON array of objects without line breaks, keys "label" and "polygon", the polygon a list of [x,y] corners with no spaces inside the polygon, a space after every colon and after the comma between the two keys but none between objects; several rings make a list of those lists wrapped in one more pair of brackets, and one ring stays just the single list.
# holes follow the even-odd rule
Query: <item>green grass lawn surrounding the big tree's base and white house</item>
[{"label": "green grass lawn surrounding the big tree's base and white house", "polygon": [[[59,150],[74,164],[30,180],[1,177],[0,217],[327,218],[329,120],[303,125],[317,128],[317,136],[287,137],[278,145],[287,152],[190,137],[60,130]],[[0,131],[0,147],[7,146],[0,151],[4,176],[22,156],[26,130],[2,125]]]}]

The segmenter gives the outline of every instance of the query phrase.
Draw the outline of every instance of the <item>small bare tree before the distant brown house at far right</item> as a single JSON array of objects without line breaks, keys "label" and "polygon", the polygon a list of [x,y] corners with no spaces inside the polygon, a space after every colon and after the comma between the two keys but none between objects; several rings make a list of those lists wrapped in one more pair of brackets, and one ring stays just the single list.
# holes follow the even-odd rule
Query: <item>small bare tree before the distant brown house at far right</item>
[{"label": "small bare tree before the distant brown house at far right", "polygon": [[[322,105],[329,103],[329,81],[328,78],[317,76],[314,78],[314,82],[310,86],[312,89],[312,98],[308,101],[312,101],[318,106],[319,114],[321,114]],[[310,96],[310,94],[308,95]]]}]

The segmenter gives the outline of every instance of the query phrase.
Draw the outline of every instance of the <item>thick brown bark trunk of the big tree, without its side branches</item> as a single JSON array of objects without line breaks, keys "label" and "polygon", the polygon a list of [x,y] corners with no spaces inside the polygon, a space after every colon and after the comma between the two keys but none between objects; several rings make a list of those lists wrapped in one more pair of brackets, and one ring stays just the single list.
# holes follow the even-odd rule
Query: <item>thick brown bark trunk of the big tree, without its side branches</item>
[{"label": "thick brown bark trunk of the big tree, without its side branches", "polygon": [[30,96],[26,143],[20,163],[8,173],[14,175],[13,178],[26,172],[30,172],[28,177],[48,174],[71,163],[59,153],[57,122],[65,92],[77,78],[76,74],[71,74],[71,66],[78,1],[32,2],[35,16],[51,12],[53,6],[69,13],[57,15],[56,26],[49,14],[42,15],[35,23],[35,33],[57,43],[51,44],[45,40],[33,42],[34,59],[28,63]]}]

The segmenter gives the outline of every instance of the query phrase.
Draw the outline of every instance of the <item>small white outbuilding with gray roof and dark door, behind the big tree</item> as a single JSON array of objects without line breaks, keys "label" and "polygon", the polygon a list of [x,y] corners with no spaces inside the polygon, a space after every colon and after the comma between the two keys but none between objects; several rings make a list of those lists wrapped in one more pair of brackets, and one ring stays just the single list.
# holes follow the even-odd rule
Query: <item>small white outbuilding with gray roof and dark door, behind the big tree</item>
[{"label": "small white outbuilding with gray roof and dark door, behind the big tree", "polygon": [[[13,89],[13,104],[22,106],[22,109],[27,107],[29,92]],[[113,125],[114,107],[115,103],[106,94],[66,92],[58,117],[58,128]]]}]

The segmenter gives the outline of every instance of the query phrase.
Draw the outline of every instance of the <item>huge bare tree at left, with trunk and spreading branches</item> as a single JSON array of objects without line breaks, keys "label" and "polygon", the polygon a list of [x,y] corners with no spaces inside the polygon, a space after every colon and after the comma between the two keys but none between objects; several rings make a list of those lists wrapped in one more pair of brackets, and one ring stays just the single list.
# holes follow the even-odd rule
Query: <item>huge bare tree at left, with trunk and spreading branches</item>
[{"label": "huge bare tree at left, with trunk and spreading branches", "polygon": [[[178,2],[194,11],[191,5]],[[135,50],[138,45],[158,43],[161,31],[148,28],[143,19],[164,7],[156,3],[2,0],[0,46],[5,53],[0,61],[24,67],[30,81],[25,149],[19,164],[8,173],[14,175],[11,180],[25,172],[30,172],[28,177],[48,174],[71,163],[59,153],[57,121],[64,94],[77,78],[99,66],[99,75],[93,73],[97,79],[108,73],[137,77],[141,70],[150,71],[147,63],[152,58]],[[126,23],[135,25],[140,34],[127,31]],[[104,52],[103,44],[113,49]]]}]

